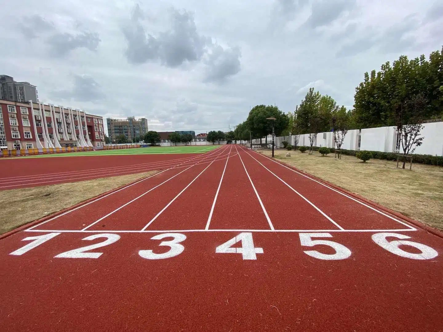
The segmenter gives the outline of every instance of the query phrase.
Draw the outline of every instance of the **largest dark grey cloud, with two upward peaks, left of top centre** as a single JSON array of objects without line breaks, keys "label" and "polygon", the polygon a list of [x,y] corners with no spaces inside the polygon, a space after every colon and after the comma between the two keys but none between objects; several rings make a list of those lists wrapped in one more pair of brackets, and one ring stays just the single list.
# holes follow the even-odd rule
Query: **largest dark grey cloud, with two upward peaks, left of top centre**
[{"label": "largest dark grey cloud, with two upward peaks, left of top centre", "polygon": [[160,32],[157,37],[144,30],[144,14],[136,4],[131,15],[131,23],[122,31],[128,43],[126,57],[132,64],[148,60],[159,61],[163,66],[178,67],[183,62],[199,61],[210,39],[199,35],[192,13],[171,9],[171,30]]}]

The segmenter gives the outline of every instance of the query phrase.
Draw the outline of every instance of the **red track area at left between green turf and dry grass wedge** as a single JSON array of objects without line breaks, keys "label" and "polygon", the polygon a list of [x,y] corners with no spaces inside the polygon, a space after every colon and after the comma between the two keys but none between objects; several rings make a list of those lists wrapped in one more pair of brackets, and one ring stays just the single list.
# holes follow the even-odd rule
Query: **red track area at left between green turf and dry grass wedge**
[{"label": "red track area at left between green turf and dry grass wedge", "polygon": [[201,155],[138,154],[5,159],[0,162],[0,190],[165,170]]}]

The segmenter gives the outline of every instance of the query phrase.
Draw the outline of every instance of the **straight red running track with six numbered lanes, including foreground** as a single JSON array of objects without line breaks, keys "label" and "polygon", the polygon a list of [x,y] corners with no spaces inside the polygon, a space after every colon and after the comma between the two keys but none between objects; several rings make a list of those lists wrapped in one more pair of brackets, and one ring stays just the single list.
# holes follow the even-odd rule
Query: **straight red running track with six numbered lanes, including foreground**
[{"label": "straight red running track with six numbered lanes, including foreground", "polygon": [[442,253],[439,236],[225,146],[0,240],[0,326],[442,331]]}]

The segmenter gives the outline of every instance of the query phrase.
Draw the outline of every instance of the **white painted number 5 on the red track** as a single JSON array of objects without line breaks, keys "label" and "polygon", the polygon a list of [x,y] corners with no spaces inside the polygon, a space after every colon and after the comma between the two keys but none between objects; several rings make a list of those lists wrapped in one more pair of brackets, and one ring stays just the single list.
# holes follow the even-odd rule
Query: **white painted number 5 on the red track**
[{"label": "white painted number 5 on the red track", "polygon": [[323,244],[334,248],[335,254],[323,254],[316,250],[303,251],[306,255],[309,255],[318,259],[337,260],[346,259],[351,255],[351,251],[344,245],[326,240],[313,240],[313,237],[332,237],[329,233],[300,233],[300,244],[306,247],[314,247],[317,244]]}]

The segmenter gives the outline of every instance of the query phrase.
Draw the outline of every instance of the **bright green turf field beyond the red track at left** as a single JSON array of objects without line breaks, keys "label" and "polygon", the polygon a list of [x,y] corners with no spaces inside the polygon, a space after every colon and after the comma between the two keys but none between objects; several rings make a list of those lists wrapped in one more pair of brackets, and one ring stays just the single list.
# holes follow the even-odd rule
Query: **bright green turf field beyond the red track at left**
[{"label": "bright green turf field beyond the red track at left", "polygon": [[[60,152],[54,154],[38,154],[18,158],[47,158],[71,156],[115,156],[127,154],[179,154],[179,153],[205,153],[220,147],[219,145],[185,145],[179,147],[135,147],[130,149],[97,150],[81,152]],[[0,158],[1,159],[1,158]]]}]

